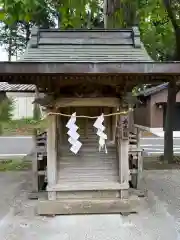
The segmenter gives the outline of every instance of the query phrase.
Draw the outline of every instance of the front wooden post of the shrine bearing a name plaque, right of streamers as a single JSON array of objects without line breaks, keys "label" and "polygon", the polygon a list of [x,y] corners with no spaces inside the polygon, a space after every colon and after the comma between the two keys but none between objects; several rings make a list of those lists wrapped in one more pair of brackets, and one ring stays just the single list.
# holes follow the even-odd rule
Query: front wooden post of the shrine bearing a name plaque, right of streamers
[{"label": "front wooden post of the shrine bearing a name plaque, right of streamers", "polygon": [[[129,129],[128,116],[120,116],[119,120],[119,178],[120,183],[129,185]],[[128,198],[128,188],[122,189],[120,197]]]}]

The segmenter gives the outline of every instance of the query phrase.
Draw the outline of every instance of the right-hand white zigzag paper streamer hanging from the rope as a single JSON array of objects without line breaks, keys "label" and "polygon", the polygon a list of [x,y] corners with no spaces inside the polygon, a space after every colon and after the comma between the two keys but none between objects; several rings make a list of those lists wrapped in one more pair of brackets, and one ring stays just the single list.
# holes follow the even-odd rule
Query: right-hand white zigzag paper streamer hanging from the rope
[{"label": "right-hand white zigzag paper streamer hanging from the rope", "polygon": [[103,122],[104,122],[104,114],[101,114],[101,116],[99,116],[96,119],[93,126],[97,128],[96,134],[99,136],[99,151],[101,151],[101,149],[104,149],[105,153],[107,153],[107,148],[106,148],[107,134],[104,133],[106,128],[103,125]]}]

